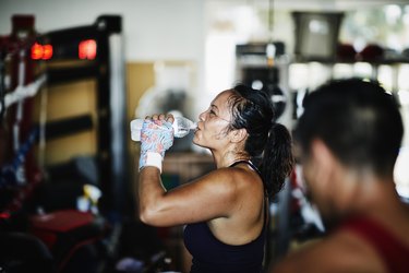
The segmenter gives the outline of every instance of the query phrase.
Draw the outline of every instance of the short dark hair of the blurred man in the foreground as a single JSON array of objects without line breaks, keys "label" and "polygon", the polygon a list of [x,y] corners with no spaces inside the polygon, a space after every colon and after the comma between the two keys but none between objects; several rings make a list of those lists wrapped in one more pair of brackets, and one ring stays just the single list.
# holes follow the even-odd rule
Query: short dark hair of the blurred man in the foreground
[{"label": "short dark hair of the blurred man in the foreground", "polygon": [[318,138],[346,166],[390,176],[404,134],[394,97],[377,82],[332,81],[304,100],[294,139],[309,155]]}]

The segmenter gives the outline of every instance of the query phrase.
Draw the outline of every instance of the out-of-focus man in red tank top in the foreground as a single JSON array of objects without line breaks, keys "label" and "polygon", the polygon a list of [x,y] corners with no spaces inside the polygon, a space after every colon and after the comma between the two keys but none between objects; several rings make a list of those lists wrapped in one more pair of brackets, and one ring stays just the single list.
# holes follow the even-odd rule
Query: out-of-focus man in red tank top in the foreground
[{"label": "out-of-focus man in red tank top in the foreground", "polygon": [[393,174],[402,133],[376,83],[335,81],[305,99],[294,139],[328,234],[270,272],[409,272],[409,209]]}]

